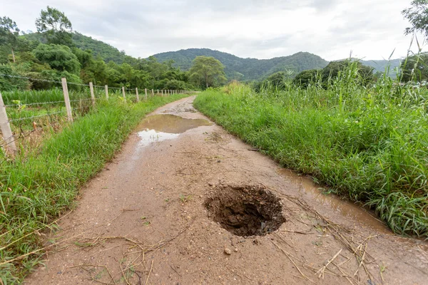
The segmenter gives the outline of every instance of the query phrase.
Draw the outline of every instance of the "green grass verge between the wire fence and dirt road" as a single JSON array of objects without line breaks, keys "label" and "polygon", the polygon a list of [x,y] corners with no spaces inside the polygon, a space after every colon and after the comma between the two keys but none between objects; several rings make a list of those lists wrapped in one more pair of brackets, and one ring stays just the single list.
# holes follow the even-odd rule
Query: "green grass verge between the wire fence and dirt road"
[{"label": "green grass verge between the wire fence and dirt road", "polygon": [[2,284],[19,283],[40,262],[39,231],[71,207],[79,188],[112,159],[141,118],[183,97],[153,97],[136,104],[118,97],[99,100],[96,108],[49,135],[39,147],[21,148],[14,159],[1,155]]}]

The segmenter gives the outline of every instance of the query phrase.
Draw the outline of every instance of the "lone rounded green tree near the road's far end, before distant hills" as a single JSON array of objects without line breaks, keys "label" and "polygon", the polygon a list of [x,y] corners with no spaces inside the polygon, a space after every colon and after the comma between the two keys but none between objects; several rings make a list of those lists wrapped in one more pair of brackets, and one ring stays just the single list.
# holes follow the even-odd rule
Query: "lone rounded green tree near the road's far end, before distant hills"
[{"label": "lone rounded green tree near the road's far end, before distant hills", "polygon": [[197,56],[190,68],[190,79],[199,86],[220,86],[226,81],[224,66],[213,56]]}]

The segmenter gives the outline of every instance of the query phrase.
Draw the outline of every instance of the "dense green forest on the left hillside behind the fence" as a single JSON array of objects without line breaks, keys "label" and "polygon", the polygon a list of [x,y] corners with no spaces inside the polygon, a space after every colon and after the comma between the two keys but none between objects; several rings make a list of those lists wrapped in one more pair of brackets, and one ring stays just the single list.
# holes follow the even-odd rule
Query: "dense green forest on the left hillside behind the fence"
[{"label": "dense green forest on the left hillside behind the fence", "polygon": [[0,18],[0,90],[49,89],[57,87],[52,81],[61,77],[69,83],[111,87],[194,88],[187,74],[173,67],[172,61],[126,56],[73,32],[71,22],[57,9],[48,6],[42,10],[36,26],[37,33],[21,35],[12,19]]}]

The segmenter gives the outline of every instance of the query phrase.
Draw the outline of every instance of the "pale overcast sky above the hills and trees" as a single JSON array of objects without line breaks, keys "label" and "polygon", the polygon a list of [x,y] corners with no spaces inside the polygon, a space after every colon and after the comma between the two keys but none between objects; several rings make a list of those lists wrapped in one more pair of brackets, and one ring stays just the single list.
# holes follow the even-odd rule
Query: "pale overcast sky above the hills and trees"
[{"label": "pale overcast sky above the hills and trees", "polygon": [[[146,58],[212,48],[243,58],[315,53],[329,61],[405,56],[401,11],[411,0],[0,0],[0,16],[36,31],[41,9],[63,11],[73,30]],[[421,37],[422,38],[422,37]]]}]

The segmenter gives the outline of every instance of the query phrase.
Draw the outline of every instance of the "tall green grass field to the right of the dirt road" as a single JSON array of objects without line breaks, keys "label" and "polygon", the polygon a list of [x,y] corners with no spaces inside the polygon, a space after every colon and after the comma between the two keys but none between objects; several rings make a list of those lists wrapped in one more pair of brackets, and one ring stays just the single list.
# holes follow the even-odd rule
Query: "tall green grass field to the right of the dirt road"
[{"label": "tall green grass field to the right of the dirt road", "polygon": [[195,107],[284,167],[372,207],[398,234],[428,238],[428,91],[390,78],[363,86],[355,66],[327,88],[232,84]]}]

